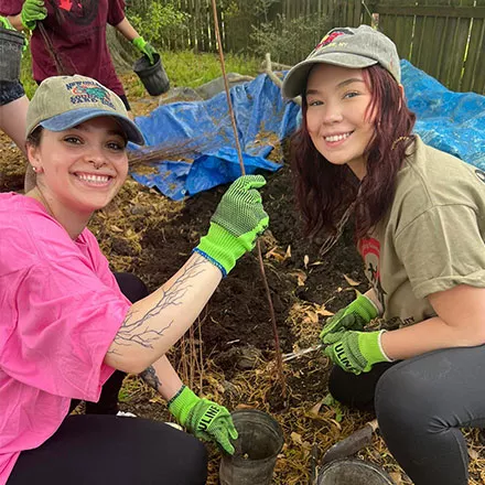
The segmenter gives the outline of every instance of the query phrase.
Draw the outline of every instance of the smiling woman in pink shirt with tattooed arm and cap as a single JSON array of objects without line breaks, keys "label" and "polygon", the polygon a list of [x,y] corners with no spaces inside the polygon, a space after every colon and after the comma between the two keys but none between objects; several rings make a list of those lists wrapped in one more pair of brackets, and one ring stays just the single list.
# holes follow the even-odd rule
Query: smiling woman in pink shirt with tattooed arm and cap
[{"label": "smiling woman in pink shirt with tattooed arm and cap", "polygon": [[141,298],[138,280],[120,280],[131,303],[86,228],[127,176],[127,141],[143,143],[122,100],[88,77],[47,78],[26,140],[36,185],[0,194],[0,485],[204,484],[206,452],[193,436],[151,420],[68,416],[69,407],[98,401],[116,369],[140,374],[187,431],[234,453],[227,409],[185,387],[165,353],[268,226],[265,180],[228,188],[160,289]]}]

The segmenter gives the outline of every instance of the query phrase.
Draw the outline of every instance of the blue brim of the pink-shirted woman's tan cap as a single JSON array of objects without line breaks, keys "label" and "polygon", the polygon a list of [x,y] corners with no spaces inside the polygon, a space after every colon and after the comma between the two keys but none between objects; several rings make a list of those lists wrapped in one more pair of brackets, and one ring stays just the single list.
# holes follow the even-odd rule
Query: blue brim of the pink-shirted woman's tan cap
[{"label": "blue brim of the pink-shirted woman's tan cap", "polygon": [[73,111],[66,111],[62,115],[53,116],[50,119],[41,121],[39,125],[50,131],[64,131],[77,125],[84,123],[93,118],[109,116],[115,118],[121,126],[128,141],[136,144],[144,144],[144,138],[140,129],[123,115],[107,111],[105,109],[79,108]]}]

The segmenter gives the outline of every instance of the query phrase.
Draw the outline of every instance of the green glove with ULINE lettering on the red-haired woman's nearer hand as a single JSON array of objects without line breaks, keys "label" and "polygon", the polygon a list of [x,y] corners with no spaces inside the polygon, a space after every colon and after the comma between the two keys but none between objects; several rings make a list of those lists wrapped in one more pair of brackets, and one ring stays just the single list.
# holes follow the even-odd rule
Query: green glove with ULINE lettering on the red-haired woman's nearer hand
[{"label": "green glove with ULINE lettering on the red-haired woman's nearer hand", "polygon": [[380,337],[385,331],[343,331],[327,334],[324,354],[347,373],[368,373],[374,364],[391,362],[382,351]]}]

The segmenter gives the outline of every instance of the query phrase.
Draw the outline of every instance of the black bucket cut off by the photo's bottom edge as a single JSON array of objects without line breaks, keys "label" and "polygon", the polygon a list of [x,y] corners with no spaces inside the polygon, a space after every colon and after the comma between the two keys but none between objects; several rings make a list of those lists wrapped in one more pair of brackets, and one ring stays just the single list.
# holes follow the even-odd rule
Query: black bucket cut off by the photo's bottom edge
[{"label": "black bucket cut off by the photo's bottom edge", "polygon": [[323,466],[317,485],[395,485],[390,476],[374,463],[363,460],[335,460]]}]

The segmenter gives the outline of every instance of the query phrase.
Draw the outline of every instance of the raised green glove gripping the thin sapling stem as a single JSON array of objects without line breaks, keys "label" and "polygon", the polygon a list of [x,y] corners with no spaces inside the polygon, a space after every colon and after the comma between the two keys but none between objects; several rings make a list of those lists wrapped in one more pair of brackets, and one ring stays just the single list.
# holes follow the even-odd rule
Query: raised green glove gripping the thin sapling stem
[{"label": "raised green glove gripping the thin sapling stem", "polygon": [[265,184],[262,175],[244,175],[233,182],[211,218],[207,235],[194,249],[217,266],[223,276],[255,247],[256,239],[268,227],[269,217],[257,191]]}]

